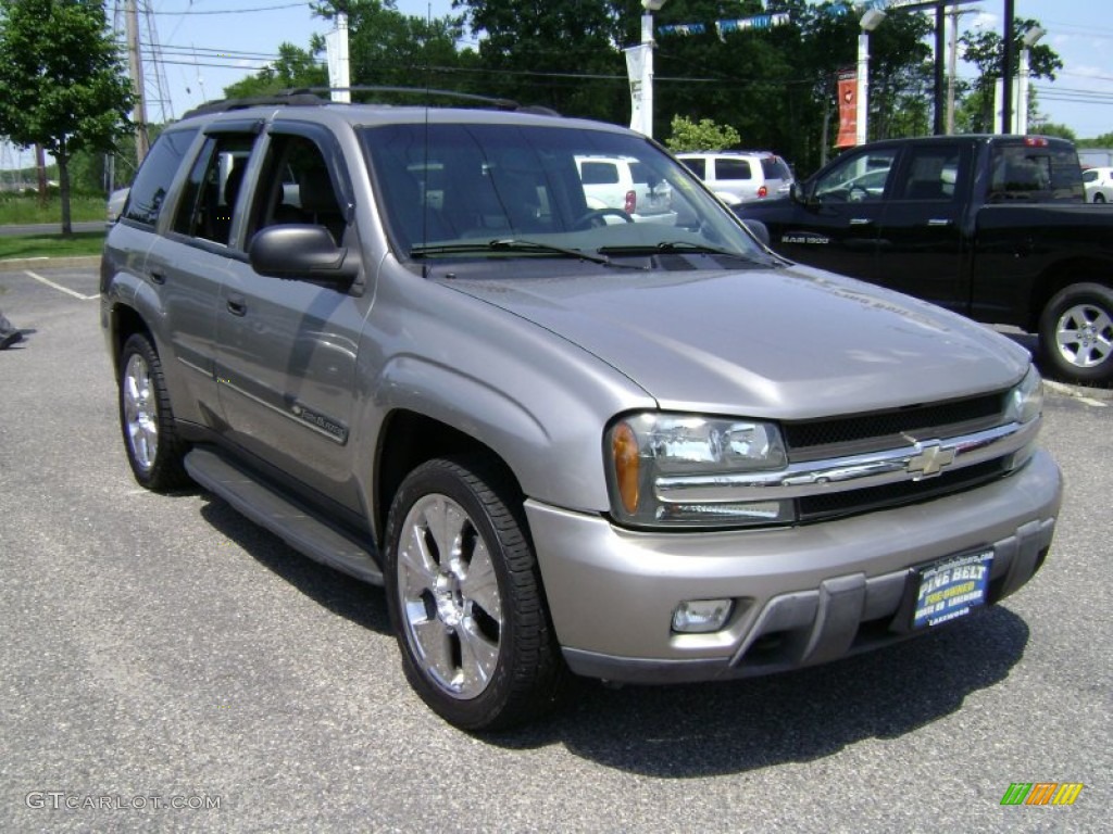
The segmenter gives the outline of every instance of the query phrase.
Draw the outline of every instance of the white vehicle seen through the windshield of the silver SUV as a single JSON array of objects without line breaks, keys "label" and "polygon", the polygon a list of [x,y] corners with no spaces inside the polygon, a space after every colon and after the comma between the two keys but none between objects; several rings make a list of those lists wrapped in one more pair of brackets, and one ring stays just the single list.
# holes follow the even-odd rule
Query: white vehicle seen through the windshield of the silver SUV
[{"label": "white vehicle seen through the windshield of the silver SUV", "polygon": [[[634,222],[676,224],[672,187],[654,179],[643,162],[627,157],[577,157],[588,206],[615,210]],[[615,220],[618,222],[618,220]]]}]

